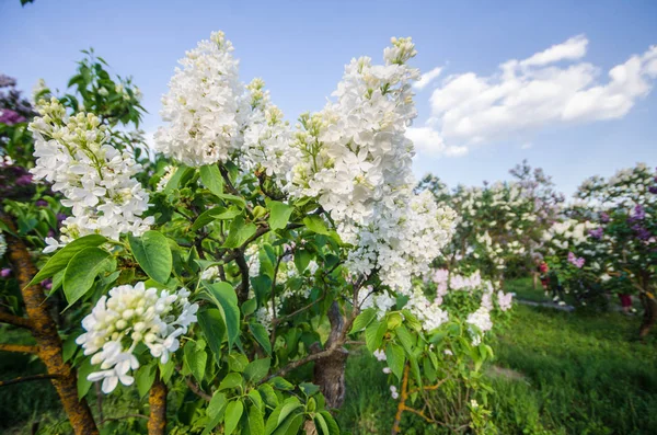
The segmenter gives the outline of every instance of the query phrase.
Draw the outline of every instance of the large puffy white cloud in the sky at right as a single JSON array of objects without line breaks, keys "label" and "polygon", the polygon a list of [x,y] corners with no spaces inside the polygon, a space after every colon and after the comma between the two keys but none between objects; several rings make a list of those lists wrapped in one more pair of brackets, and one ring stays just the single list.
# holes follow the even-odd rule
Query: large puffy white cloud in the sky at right
[{"label": "large puffy white cloud in the sky at right", "polygon": [[493,76],[448,77],[431,94],[429,122],[408,137],[422,141],[417,148],[425,152],[461,156],[472,144],[625,116],[653,89],[657,46],[611,68],[602,81],[600,68],[583,60],[587,45],[585,36],[575,36],[527,59],[505,61]]}]

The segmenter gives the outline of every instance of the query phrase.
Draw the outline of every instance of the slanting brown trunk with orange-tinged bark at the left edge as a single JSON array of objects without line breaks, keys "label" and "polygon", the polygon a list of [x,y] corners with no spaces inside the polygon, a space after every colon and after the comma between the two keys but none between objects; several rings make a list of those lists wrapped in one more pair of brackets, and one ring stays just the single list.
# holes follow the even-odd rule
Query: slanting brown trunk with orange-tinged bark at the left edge
[{"label": "slanting brown trunk with orange-tinged bark at the left edge", "polygon": [[[14,231],[13,222],[0,215],[10,230]],[[36,275],[30,252],[19,238],[7,234],[9,259],[15,267],[19,285],[22,287],[25,311],[32,327],[32,336],[38,346],[38,357],[46,366],[48,375],[54,376],[53,385],[61,400],[64,410],[77,435],[95,435],[99,430],[85,400],[78,400],[78,376],[76,369],[64,362],[61,356],[61,339],[57,333],[57,324],[48,313],[48,301],[38,285],[27,286]]]}]

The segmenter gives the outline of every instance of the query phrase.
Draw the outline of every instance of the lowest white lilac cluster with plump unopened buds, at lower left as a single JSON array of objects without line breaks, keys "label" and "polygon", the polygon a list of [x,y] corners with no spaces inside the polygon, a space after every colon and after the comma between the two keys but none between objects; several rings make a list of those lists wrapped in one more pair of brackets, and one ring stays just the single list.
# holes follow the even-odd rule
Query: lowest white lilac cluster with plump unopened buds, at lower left
[{"label": "lowest white lilac cluster with plump unopened buds, at lower left", "polygon": [[139,368],[135,351],[146,345],[150,354],[165,364],[170,354],[180,347],[180,336],[196,322],[197,304],[187,299],[189,291],[158,291],[146,288],[142,282],[124,285],[102,296],[92,312],[82,320],[87,331],[76,343],[82,345],[84,355],[93,355],[92,364],[100,371],[89,375],[91,381],[103,381],[103,392],[112,392],[118,382],[134,382],[130,370]]}]

